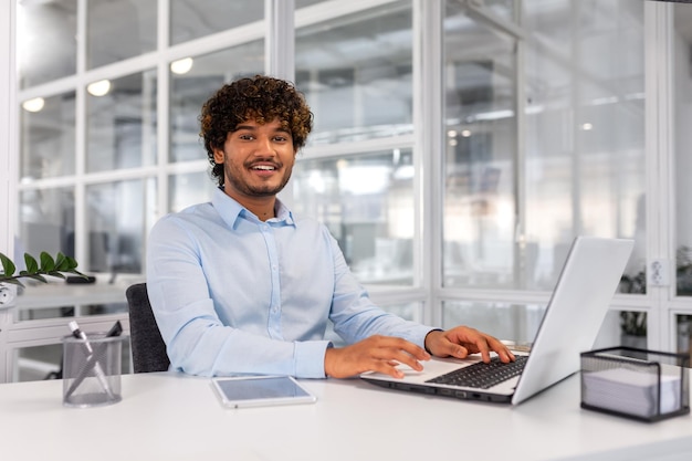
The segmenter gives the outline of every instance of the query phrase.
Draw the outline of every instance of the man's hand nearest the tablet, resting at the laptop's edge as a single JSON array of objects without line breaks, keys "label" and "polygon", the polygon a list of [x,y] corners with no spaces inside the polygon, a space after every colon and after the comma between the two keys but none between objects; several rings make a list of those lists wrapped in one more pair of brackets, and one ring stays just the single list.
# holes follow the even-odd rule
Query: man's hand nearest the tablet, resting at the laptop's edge
[{"label": "man's hand nearest the tablet, resting at the laptop's edge", "polygon": [[430,354],[406,339],[391,336],[370,336],[346,347],[328,348],[324,355],[324,370],[328,377],[347,378],[365,371],[377,371],[395,378],[403,373],[397,365],[423,369],[419,360],[429,360]]}]

